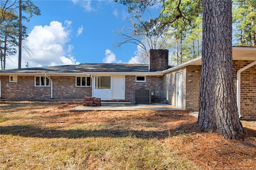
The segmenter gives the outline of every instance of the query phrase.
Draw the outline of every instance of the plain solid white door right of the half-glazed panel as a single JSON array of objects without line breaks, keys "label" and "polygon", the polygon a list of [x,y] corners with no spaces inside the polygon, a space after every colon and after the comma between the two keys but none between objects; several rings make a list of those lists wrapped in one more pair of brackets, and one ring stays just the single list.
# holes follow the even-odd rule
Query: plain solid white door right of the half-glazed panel
[{"label": "plain solid white door right of the half-glazed panel", "polygon": [[124,100],[124,76],[113,75],[113,100]]}]

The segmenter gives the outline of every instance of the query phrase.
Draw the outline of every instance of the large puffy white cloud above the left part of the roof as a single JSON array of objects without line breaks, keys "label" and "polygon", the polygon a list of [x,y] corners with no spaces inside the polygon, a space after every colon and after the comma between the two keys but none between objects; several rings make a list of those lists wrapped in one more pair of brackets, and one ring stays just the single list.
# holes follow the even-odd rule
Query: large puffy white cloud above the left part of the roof
[{"label": "large puffy white cloud above the left part of the roof", "polygon": [[[65,21],[70,26],[72,22]],[[27,46],[32,50],[32,56],[28,55],[26,51],[22,51],[22,68],[25,67],[26,62],[29,67],[42,67],[49,65],[65,65],[77,64],[74,56],[70,56],[73,45],[68,45],[70,41],[71,31],[62,26],[58,21],[50,22],[50,25],[35,26],[28,34]],[[68,57],[65,57],[67,56]],[[15,60],[15,61],[14,61]],[[18,54],[16,54],[13,62],[7,61],[6,69],[18,67]]]}]

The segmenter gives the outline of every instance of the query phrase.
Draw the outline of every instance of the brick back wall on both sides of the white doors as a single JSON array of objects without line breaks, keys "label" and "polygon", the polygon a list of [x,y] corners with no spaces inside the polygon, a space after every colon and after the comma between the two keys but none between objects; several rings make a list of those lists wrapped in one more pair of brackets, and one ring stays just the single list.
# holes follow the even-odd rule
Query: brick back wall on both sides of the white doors
[{"label": "brick back wall on both sides of the white doors", "polygon": [[[134,76],[126,76],[126,98],[124,101],[133,102],[133,89],[150,89],[154,95],[152,102],[162,101],[162,77],[146,76],[146,82],[135,82]],[[51,76],[53,81],[53,99],[51,87],[34,87],[34,76],[18,76],[18,83],[9,83],[9,76],[1,76],[2,99],[6,100],[82,100],[92,96],[92,87],[76,87],[75,76]],[[6,84],[9,84],[9,87]],[[112,100],[113,102],[116,100]],[[119,100],[120,101],[120,100]]]}]

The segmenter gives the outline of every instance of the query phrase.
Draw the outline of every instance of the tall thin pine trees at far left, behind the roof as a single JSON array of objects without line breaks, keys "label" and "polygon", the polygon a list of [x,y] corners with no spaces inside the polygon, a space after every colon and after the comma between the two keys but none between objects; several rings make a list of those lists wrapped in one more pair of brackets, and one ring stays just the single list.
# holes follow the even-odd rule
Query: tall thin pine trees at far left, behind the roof
[{"label": "tall thin pine trees at far left, behind the roof", "polygon": [[[19,9],[24,12],[21,17]],[[26,34],[27,28],[22,24],[22,20],[29,22],[33,15],[40,15],[40,9],[31,0],[5,0],[0,2],[1,69],[5,69],[6,59],[17,53],[17,46],[20,50],[23,47],[24,50],[30,51],[25,44],[21,43],[28,36]]]}]

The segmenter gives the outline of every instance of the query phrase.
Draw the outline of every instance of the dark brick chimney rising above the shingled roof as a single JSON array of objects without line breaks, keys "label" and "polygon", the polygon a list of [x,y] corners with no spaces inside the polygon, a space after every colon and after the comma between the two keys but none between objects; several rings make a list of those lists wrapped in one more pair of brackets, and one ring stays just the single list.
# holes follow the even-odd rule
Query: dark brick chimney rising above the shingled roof
[{"label": "dark brick chimney rising above the shingled roof", "polygon": [[162,71],[168,68],[168,49],[149,50],[149,71]]}]

